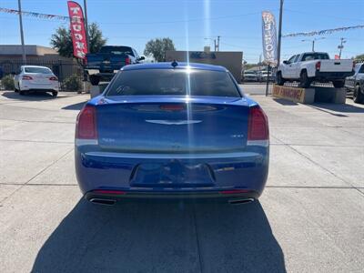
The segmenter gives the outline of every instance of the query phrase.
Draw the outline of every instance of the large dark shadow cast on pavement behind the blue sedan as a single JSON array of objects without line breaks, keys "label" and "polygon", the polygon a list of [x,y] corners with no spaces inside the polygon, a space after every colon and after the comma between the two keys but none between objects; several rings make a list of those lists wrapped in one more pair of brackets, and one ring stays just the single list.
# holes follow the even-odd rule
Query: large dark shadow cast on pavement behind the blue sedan
[{"label": "large dark shadow cast on pavement behind the blue sedan", "polygon": [[[46,225],[46,223],[45,223]],[[99,207],[80,200],[32,272],[286,272],[260,203]]]}]

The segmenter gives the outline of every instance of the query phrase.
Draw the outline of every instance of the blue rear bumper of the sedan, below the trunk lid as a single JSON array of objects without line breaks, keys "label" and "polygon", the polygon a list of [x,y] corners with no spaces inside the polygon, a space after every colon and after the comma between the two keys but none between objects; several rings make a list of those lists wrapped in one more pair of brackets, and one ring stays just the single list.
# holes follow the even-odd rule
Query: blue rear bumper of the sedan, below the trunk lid
[{"label": "blue rear bumper of the sedan, below the trunk lid", "polygon": [[[121,190],[120,199],[226,199],[221,191],[243,189],[234,197],[257,198],[263,191],[268,177],[268,147],[255,147],[249,152],[215,155],[147,155],[89,152],[88,147],[75,148],[76,177],[81,191],[87,199],[103,197],[97,189]],[[207,166],[211,173],[208,183],[179,180],[178,183],[156,180],[160,174],[143,174],[145,183],[136,183],[137,167],[143,164],[170,166],[171,162],[181,166]],[[148,177],[150,175],[150,177]],[[193,180],[194,177],[191,177]],[[173,179],[172,179],[173,180]],[[208,180],[208,179],[207,179]],[[108,197],[108,195],[106,195]]]}]

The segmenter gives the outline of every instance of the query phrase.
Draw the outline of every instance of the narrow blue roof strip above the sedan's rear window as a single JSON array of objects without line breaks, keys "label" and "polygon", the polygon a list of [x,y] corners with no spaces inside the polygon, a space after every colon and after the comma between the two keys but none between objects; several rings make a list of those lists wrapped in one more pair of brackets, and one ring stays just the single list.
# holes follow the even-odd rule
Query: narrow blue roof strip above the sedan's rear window
[{"label": "narrow blue roof strip above the sedan's rear window", "polygon": [[[169,69],[174,68],[172,66],[173,62],[165,62],[165,63],[148,63],[148,64],[138,64],[132,66],[124,66],[122,70],[137,70],[137,69]],[[227,71],[227,68],[224,66],[212,66],[205,64],[196,64],[196,63],[185,63],[185,62],[177,62],[177,66],[175,69],[201,69],[201,70],[213,70],[213,71]]]}]

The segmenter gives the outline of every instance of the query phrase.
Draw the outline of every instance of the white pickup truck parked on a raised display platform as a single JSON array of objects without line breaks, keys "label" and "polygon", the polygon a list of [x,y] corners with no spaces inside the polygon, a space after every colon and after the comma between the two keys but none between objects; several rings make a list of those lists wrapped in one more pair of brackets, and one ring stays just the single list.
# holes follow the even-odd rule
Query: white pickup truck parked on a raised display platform
[{"label": "white pickup truck parked on a raised display platform", "polygon": [[354,75],[353,61],[330,60],[323,52],[306,52],[291,56],[278,66],[277,83],[298,81],[299,86],[307,88],[313,81],[332,82],[336,88],[344,86],[345,78]]}]

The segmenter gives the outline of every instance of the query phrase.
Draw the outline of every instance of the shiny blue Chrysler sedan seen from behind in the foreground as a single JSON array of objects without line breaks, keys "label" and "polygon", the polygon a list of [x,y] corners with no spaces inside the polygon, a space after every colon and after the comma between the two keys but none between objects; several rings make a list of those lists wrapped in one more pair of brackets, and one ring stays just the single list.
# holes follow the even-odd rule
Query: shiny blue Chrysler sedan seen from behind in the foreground
[{"label": "shiny blue Chrysler sedan seen from behind in the foreground", "polygon": [[245,203],[268,177],[268,118],[222,66],[123,67],[76,121],[76,177],[87,200]]}]

